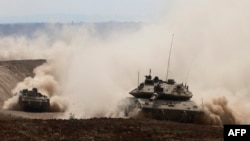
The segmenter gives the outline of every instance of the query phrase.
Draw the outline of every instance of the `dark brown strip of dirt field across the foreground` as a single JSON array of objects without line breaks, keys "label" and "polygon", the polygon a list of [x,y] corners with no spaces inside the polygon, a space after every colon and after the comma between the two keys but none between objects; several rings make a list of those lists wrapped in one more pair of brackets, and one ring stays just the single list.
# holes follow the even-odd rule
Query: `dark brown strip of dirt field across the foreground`
[{"label": "dark brown strip of dirt field across the foreground", "polygon": [[1,140],[31,141],[219,141],[221,127],[152,119],[0,120]]}]

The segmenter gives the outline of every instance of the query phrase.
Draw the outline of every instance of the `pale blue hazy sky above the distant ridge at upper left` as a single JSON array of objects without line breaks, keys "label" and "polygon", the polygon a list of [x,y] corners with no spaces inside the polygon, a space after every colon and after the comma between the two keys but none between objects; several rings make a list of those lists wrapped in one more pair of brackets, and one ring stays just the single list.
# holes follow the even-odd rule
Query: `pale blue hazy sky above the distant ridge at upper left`
[{"label": "pale blue hazy sky above the distant ridge at upper left", "polygon": [[154,21],[170,0],[0,0],[0,23]]}]

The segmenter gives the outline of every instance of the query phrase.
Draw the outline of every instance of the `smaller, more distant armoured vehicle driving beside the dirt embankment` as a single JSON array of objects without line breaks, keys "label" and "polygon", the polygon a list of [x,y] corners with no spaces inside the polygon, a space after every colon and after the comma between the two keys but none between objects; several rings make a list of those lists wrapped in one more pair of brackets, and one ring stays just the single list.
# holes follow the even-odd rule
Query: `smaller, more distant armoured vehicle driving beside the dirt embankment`
[{"label": "smaller, more distant armoured vehicle driving beside the dirt embankment", "polygon": [[19,92],[18,104],[24,111],[44,112],[49,110],[50,100],[39,93],[37,88],[23,89]]}]

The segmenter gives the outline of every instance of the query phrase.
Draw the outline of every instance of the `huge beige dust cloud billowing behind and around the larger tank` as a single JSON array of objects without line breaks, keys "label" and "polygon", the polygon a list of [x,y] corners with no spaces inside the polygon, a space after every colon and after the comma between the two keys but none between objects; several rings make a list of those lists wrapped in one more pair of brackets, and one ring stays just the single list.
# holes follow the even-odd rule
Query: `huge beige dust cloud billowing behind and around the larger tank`
[{"label": "huge beige dust cloud billowing behind and around the larger tank", "polygon": [[123,117],[114,114],[115,107],[137,85],[138,72],[141,81],[150,68],[152,75],[166,77],[174,34],[169,78],[189,84],[193,100],[200,105],[204,101],[209,123],[250,123],[249,4],[179,0],[157,23],[102,36],[91,24],[64,25],[56,31],[49,25],[53,34],[1,38],[1,58],[52,60],[60,89],[43,91],[52,91],[51,96],[59,91],[66,99],[65,117]]}]

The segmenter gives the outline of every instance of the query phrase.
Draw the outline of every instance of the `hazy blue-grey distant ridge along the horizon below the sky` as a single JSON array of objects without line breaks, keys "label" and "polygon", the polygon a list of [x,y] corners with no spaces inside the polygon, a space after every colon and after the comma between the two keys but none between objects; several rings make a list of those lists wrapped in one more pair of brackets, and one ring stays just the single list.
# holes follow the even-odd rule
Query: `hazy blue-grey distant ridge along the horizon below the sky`
[{"label": "hazy blue-grey distant ridge along the horizon below the sky", "polygon": [[0,36],[26,36],[32,37],[37,31],[51,33],[62,29],[64,26],[86,26],[91,25],[98,33],[104,34],[110,30],[131,29],[136,30],[141,27],[140,22],[78,22],[78,23],[10,23],[0,24]]}]

